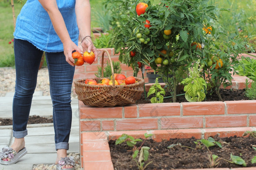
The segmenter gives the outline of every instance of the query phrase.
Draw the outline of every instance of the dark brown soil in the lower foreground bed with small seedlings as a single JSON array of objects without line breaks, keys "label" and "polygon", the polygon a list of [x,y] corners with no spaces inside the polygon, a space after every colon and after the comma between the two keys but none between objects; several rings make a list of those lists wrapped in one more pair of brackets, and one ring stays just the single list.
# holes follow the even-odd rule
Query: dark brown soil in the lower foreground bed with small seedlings
[{"label": "dark brown soil in the lower foreground bed with small seedlings", "polygon": [[[209,147],[209,150],[202,144],[202,148],[197,148],[196,142],[198,139],[170,139],[169,141],[163,140],[162,142],[155,142],[152,139],[146,140],[143,146],[150,147],[148,160],[145,162],[151,162],[146,169],[148,170],[169,170],[169,169],[202,169],[210,168],[210,161],[208,154],[217,155],[218,158],[224,158],[231,161],[230,154],[239,156],[246,162],[246,167],[256,167],[256,163],[251,163],[251,160],[256,156],[256,151],[252,147],[255,147],[256,139],[252,136],[248,138],[241,137],[230,137],[230,138],[219,138],[214,137],[215,141],[221,143],[222,148],[218,146]],[[141,142],[136,144],[139,147]],[[176,145],[173,148],[167,148],[172,144]],[[186,147],[185,147],[186,146]],[[115,170],[136,170],[138,166],[135,160],[132,159],[132,148],[127,144],[121,143],[115,145],[114,140],[109,141],[109,147],[112,157],[112,162]],[[191,147],[191,148],[188,148]],[[192,149],[194,148],[194,149]],[[229,163],[224,160],[218,160],[217,166],[219,168],[236,168],[244,167],[242,165],[236,165]],[[137,158],[138,160],[138,158]],[[256,168],[255,168],[256,169]]]}]

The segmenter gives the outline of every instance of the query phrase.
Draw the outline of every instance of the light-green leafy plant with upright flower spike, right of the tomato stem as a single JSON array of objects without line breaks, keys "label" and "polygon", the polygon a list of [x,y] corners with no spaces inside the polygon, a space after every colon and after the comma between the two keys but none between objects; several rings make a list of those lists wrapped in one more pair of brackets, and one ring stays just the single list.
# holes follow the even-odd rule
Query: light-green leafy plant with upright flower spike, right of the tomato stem
[{"label": "light-green leafy plant with upright flower spike, right of the tomato stem", "polygon": [[200,77],[200,71],[203,69],[203,66],[199,67],[199,62],[200,60],[196,62],[196,65],[193,66],[192,70],[191,68],[188,68],[189,77],[181,82],[182,84],[185,84],[185,98],[189,102],[202,101],[205,98],[204,90],[207,88],[207,84],[206,81]]}]

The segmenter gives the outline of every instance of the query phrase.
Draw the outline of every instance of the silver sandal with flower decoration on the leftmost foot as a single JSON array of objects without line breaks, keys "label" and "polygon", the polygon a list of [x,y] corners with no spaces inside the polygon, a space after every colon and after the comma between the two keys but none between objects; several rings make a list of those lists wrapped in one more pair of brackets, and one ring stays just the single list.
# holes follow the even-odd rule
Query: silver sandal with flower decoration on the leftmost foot
[{"label": "silver sandal with flower decoration on the leftmost foot", "polygon": [[[24,155],[27,154],[27,149],[24,147],[18,153],[13,150],[11,147],[5,146],[2,148],[0,153],[0,164],[2,165],[12,165],[19,161]],[[10,161],[3,161],[3,159],[10,158]]]}]

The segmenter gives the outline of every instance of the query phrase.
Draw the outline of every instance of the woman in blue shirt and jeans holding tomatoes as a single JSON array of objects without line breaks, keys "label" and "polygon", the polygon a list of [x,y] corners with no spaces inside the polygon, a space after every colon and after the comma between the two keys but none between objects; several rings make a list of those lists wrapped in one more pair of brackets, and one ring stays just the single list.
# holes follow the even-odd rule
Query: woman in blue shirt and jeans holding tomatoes
[{"label": "woman in blue shirt and jeans holding tomatoes", "polygon": [[[14,143],[3,148],[0,163],[16,163],[26,154],[24,137],[41,56],[45,51],[53,103],[57,169],[74,168],[67,158],[71,129],[71,88],[74,76],[72,52],[97,52],[91,41],[89,0],[27,0],[16,21],[14,54],[16,86],[13,100]],[[78,38],[82,39],[83,51]]]}]

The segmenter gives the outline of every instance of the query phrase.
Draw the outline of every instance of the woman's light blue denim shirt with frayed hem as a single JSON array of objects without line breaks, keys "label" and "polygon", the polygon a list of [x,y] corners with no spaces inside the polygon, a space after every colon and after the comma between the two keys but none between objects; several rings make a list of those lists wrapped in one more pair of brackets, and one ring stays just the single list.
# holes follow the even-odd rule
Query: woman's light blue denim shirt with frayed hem
[{"label": "woman's light blue denim shirt with frayed hem", "polygon": [[[56,0],[71,40],[78,45],[75,0]],[[46,52],[61,52],[63,44],[56,34],[48,13],[38,0],[27,0],[16,21],[14,38],[31,42]]]}]

